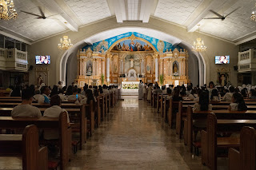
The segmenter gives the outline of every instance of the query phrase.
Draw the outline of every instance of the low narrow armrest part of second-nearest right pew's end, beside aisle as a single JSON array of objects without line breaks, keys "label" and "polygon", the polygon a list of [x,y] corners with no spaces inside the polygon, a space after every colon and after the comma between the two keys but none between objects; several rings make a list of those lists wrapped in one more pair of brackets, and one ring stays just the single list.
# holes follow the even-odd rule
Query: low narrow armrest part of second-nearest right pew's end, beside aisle
[{"label": "low narrow armrest part of second-nearest right pew's end, beside aisle", "polygon": [[201,146],[202,146],[202,164],[208,164],[208,137],[207,132],[201,131]]}]

